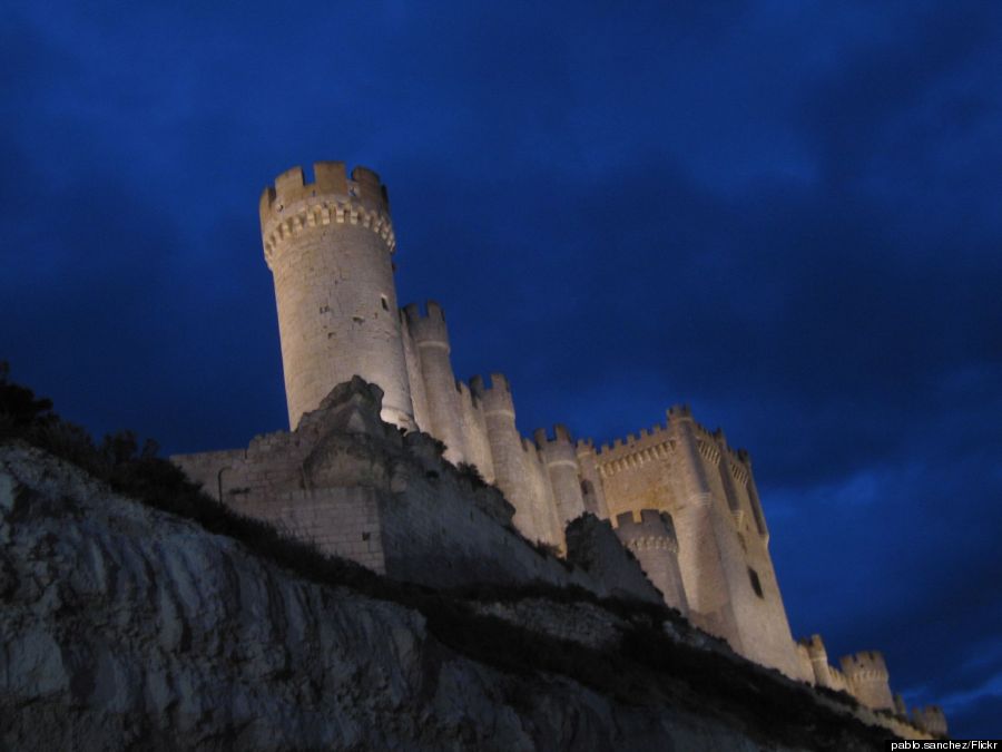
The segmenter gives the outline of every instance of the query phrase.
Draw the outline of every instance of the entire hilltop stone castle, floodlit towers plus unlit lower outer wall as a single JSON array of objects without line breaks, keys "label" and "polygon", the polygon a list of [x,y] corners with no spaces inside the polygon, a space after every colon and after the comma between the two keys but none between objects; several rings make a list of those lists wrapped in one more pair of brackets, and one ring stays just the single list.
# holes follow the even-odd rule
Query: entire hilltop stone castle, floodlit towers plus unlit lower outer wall
[{"label": "entire hilltop stone castle, floodlit towers plus unlit lower outer wall", "polygon": [[[723,431],[676,407],[611,446],[563,426],[528,439],[502,374],[455,379],[442,307],[399,306],[390,199],[374,172],[323,162],[310,182],[295,167],[265,188],[259,214],[292,430],[173,458],[220,501],[432,585],[543,579],[645,596],[649,584],[630,579],[639,563],[655,597],[737,653],[905,712],[880,653],[838,670],[819,636],[794,641],[752,460]],[[468,482],[472,468],[488,486]],[[527,543],[580,563],[580,529],[573,540],[569,530],[589,515],[607,520],[588,544],[601,567],[568,569]],[[616,540],[636,561],[616,558]],[[913,719],[945,733],[937,707]]]}]

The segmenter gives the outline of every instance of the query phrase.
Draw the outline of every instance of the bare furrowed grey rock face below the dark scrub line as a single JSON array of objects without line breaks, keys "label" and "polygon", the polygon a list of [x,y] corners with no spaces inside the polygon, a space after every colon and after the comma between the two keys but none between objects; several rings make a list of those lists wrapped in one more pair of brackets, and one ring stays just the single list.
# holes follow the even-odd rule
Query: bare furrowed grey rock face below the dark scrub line
[{"label": "bare furrowed grey rock face below the dark scrub line", "polygon": [[0,447],[0,749],[760,749],[502,674],[22,446]]}]

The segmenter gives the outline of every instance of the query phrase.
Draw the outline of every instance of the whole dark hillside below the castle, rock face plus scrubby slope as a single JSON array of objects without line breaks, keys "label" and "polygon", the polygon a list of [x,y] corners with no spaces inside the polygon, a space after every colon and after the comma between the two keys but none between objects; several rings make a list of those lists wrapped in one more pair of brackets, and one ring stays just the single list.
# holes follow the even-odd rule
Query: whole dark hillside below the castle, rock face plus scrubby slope
[{"label": "whole dark hillside below the castle, rock face plus scrubby slope", "polygon": [[[450,597],[415,596],[482,638],[0,446],[3,750],[863,750],[886,735],[708,638],[698,650],[681,623],[644,642],[651,607]],[[569,668],[520,662],[530,638]]]}]

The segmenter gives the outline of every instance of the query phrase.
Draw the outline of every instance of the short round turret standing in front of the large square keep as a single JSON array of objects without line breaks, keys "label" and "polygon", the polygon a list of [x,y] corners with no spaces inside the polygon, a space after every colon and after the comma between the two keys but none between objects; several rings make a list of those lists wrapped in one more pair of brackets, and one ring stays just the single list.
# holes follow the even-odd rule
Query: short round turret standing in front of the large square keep
[{"label": "short round turret standing in front of the large square keep", "polygon": [[689,602],[678,568],[678,538],[671,515],[657,509],[641,509],[640,521],[633,512],[616,516],[616,535],[633,553],[648,579],[665,597],[665,603],[682,615],[689,613]]}]

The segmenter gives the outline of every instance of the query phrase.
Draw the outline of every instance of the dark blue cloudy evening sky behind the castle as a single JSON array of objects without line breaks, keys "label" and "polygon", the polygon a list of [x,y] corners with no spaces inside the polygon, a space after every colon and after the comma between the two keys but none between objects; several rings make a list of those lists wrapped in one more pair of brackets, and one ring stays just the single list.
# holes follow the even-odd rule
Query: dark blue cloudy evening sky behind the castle
[{"label": "dark blue cloudy evening sky behind the castle", "polygon": [[19,2],[0,358],[167,451],[284,427],[257,197],[342,159],[523,432],[747,447],[795,634],[1002,726],[1002,4]]}]

